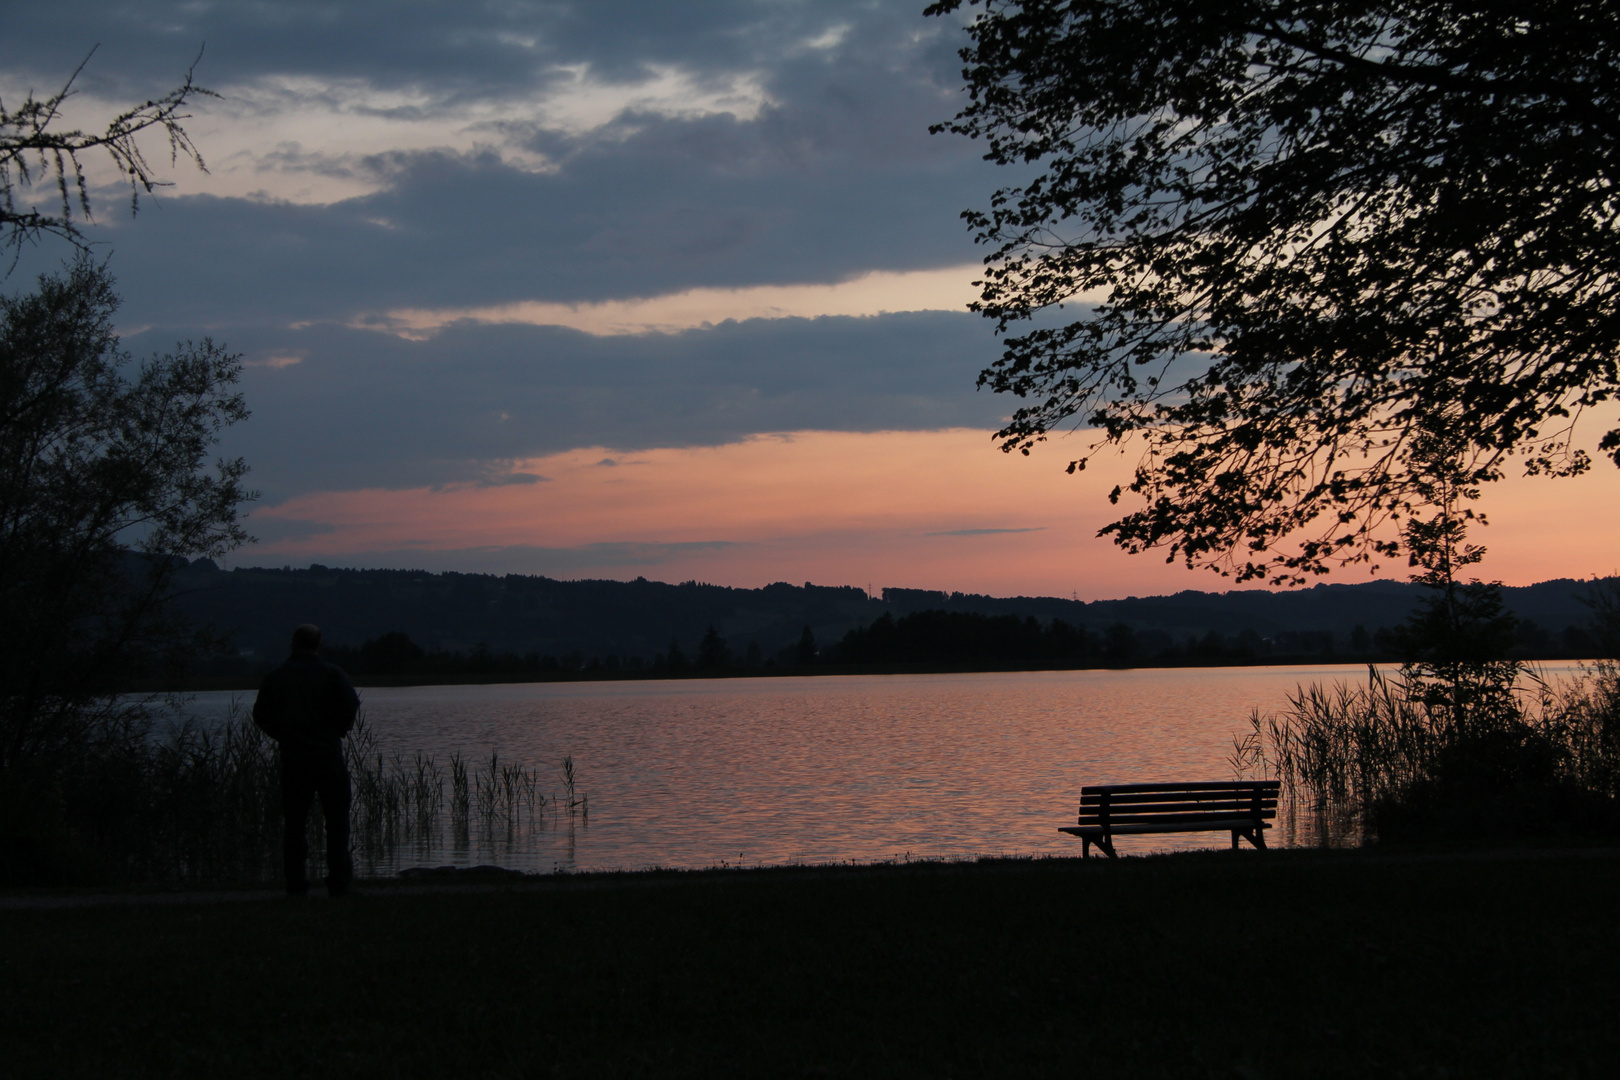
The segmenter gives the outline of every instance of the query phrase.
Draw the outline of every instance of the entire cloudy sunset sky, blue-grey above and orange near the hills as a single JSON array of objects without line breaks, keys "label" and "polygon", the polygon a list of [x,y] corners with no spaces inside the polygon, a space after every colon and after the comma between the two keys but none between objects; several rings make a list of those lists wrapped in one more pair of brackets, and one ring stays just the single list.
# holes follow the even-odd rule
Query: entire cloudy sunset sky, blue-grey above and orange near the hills
[{"label": "entire cloudy sunset sky, blue-grey above and orange near the hills", "polygon": [[[134,219],[97,188],[87,232],[136,356],[243,355],[225,452],[261,497],[237,565],[1228,588],[1095,538],[1131,458],[1068,476],[1084,436],[995,449],[1016,403],[974,387],[998,350],[957,215],[1011,176],[928,134],[962,34],[923,6],[8,5],[0,96],[99,44],[66,117],[91,126],[206,45],[211,172],[165,170]],[[1484,573],[1614,572],[1617,495],[1604,460],[1498,486]]]}]

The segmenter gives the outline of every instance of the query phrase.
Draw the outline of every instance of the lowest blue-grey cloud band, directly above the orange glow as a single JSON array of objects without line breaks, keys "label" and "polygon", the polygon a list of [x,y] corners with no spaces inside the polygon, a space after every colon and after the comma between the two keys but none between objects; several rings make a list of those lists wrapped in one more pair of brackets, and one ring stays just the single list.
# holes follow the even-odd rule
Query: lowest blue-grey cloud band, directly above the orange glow
[{"label": "lowest blue-grey cloud band, directly above the orange glow", "polygon": [[[173,337],[157,327],[126,345],[143,355]],[[334,325],[241,329],[228,340],[249,361],[306,356],[245,371],[254,416],[227,439],[272,502],[491,483],[512,461],[590,445],[624,453],[774,431],[988,429],[1006,408],[974,392],[988,330],[951,313],[750,319],[643,337],[458,324],[426,342]]]}]

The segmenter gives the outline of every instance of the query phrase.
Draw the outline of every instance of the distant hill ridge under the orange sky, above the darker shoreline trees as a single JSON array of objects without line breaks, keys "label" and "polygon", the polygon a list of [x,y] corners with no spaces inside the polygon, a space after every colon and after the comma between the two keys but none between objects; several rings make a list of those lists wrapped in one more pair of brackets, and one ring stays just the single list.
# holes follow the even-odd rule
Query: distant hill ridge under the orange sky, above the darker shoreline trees
[{"label": "distant hill ridge under the orange sky, above the darker shoreline trees", "polygon": [[[643,667],[667,654],[672,643],[693,656],[710,627],[735,657],[753,662],[792,662],[808,627],[823,657],[834,659],[836,644],[850,630],[872,625],[885,612],[904,617],[923,610],[1034,617],[1042,625],[1061,619],[1092,635],[1129,627],[1137,659],[1210,635],[1243,638],[1247,654],[1259,657],[1351,659],[1367,651],[1380,628],[1403,622],[1422,593],[1409,583],[1366,581],[1286,593],[1189,589],[1092,602],[927,589],[885,589],[875,599],[854,586],[810,583],[740,589],[645,578],[559,581],[321,565],[220,570],[206,559],[181,570],[177,586],[180,612],[227,633],[238,662],[251,667],[280,659],[290,630],[301,622],[318,623],[337,648],[402,633],[429,651],[473,653],[483,646],[554,657],[562,667],[585,667],[591,659]],[[1580,602],[1589,586],[1563,578],[1503,589],[1508,606],[1526,620],[1526,654],[1571,656],[1591,648],[1583,631],[1591,612]]]}]

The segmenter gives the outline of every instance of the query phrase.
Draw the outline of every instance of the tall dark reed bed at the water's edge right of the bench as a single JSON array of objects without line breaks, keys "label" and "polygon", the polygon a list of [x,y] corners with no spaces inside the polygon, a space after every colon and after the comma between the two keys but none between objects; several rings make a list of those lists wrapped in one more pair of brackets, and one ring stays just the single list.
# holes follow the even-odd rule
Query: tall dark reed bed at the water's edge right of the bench
[{"label": "tall dark reed bed at the water's edge right of the bench", "polygon": [[1620,664],[1601,661],[1570,680],[1510,665],[1490,678],[1437,691],[1411,667],[1395,677],[1369,667],[1361,685],[1301,687],[1281,711],[1251,714],[1230,761],[1239,777],[1275,771],[1293,844],[1408,832],[1418,805],[1426,821],[1450,814],[1453,832],[1511,829],[1513,813],[1537,829],[1614,829]]}]

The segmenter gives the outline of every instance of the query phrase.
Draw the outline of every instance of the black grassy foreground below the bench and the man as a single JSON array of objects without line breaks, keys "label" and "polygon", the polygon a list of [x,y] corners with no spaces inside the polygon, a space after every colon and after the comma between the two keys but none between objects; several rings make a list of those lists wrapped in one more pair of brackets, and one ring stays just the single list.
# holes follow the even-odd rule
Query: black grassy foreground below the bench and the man
[{"label": "black grassy foreground below the bench and the man", "polygon": [[1620,858],[1200,855],[0,912],[13,1077],[1612,1077]]}]

